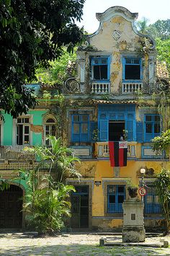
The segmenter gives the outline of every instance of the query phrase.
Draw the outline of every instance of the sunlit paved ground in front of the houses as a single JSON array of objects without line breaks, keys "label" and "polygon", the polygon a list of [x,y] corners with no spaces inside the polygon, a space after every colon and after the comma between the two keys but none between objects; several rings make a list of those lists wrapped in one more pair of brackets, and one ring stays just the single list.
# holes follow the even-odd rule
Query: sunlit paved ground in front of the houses
[{"label": "sunlit paved ground in front of the houses", "polygon": [[[121,236],[113,237],[116,242],[121,241]],[[22,234],[0,234],[0,255],[4,256],[55,256],[55,255],[169,255],[169,248],[153,247],[99,247],[102,234],[63,234],[58,237],[28,237]],[[148,237],[146,242],[155,244],[160,239],[169,240],[170,237]]]}]

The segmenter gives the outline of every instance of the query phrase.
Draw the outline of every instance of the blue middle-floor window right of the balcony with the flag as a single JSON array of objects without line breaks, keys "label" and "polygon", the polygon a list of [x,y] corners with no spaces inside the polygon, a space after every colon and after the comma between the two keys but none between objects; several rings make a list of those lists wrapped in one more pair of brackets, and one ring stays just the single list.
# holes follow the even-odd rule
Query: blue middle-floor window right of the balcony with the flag
[{"label": "blue middle-floor window right of the balcony with the flag", "polygon": [[145,141],[151,141],[152,138],[161,133],[160,115],[145,115]]}]

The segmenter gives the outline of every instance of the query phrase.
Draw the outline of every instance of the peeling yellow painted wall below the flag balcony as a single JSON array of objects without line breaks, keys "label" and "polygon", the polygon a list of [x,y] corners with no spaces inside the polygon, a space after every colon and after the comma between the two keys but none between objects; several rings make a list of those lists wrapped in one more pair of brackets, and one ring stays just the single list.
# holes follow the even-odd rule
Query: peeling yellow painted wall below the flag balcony
[{"label": "peeling yellow painted wall below the flag balcony", "polygon": [[[119,184],[122,184],[122,180],[131,180],[134,185],[138,185],[140,177],[140,168],[153,168],[154,175],[161,171],[163,163],[154,162],[154,161],[130,161],[128,160],[127,167],[120,167],[119,177],[115,177],[114,168],[110,167],[109,159],[108,160],[99,160],[99,161],[89,161],[81,162],[79,164],[79,170],[83,177],[94,177],[95,181],[110,180],[112,182],[120,180]],[[84,178],[82,178],[83,180]],[[115,183],[118,184],[118,183]],[[124,183],[125,184],[125,183]],[[94,190],[92,193],[92,216],[104,216],[104,190],[103,183],[98,187],[94,185]],[[94,222],[97,223],[97,220]],[[98,220],[99,222],[99,220]],[[112,220],[107,220],[107,224],[112,225]],[[117,223],[117,224],[116,224]],[[119,225],[120,220],[114,220],[114,225]]]}]

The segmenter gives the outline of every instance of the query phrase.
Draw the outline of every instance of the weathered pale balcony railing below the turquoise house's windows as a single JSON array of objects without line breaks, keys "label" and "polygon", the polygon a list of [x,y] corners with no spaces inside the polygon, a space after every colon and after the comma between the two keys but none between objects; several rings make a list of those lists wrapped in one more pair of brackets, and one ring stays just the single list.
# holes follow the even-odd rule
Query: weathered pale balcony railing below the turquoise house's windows
[{"label": "weathered pale balcony railing below the turquoise house's windows", "polygon": [[35,154],[23,149],[24,146],[0,146],[0,160],[35,160]]}]

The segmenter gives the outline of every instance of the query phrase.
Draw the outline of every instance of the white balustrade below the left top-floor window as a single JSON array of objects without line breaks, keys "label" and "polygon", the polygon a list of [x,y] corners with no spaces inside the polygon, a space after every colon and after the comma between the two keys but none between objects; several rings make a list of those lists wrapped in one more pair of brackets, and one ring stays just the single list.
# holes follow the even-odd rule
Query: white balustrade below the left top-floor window
[{"label": "white balustrade below the left top-floor window", "polygon": [[91,83],[91,93],[95,94],[109,94],[110,83],[104,82],[93,82]]}]

